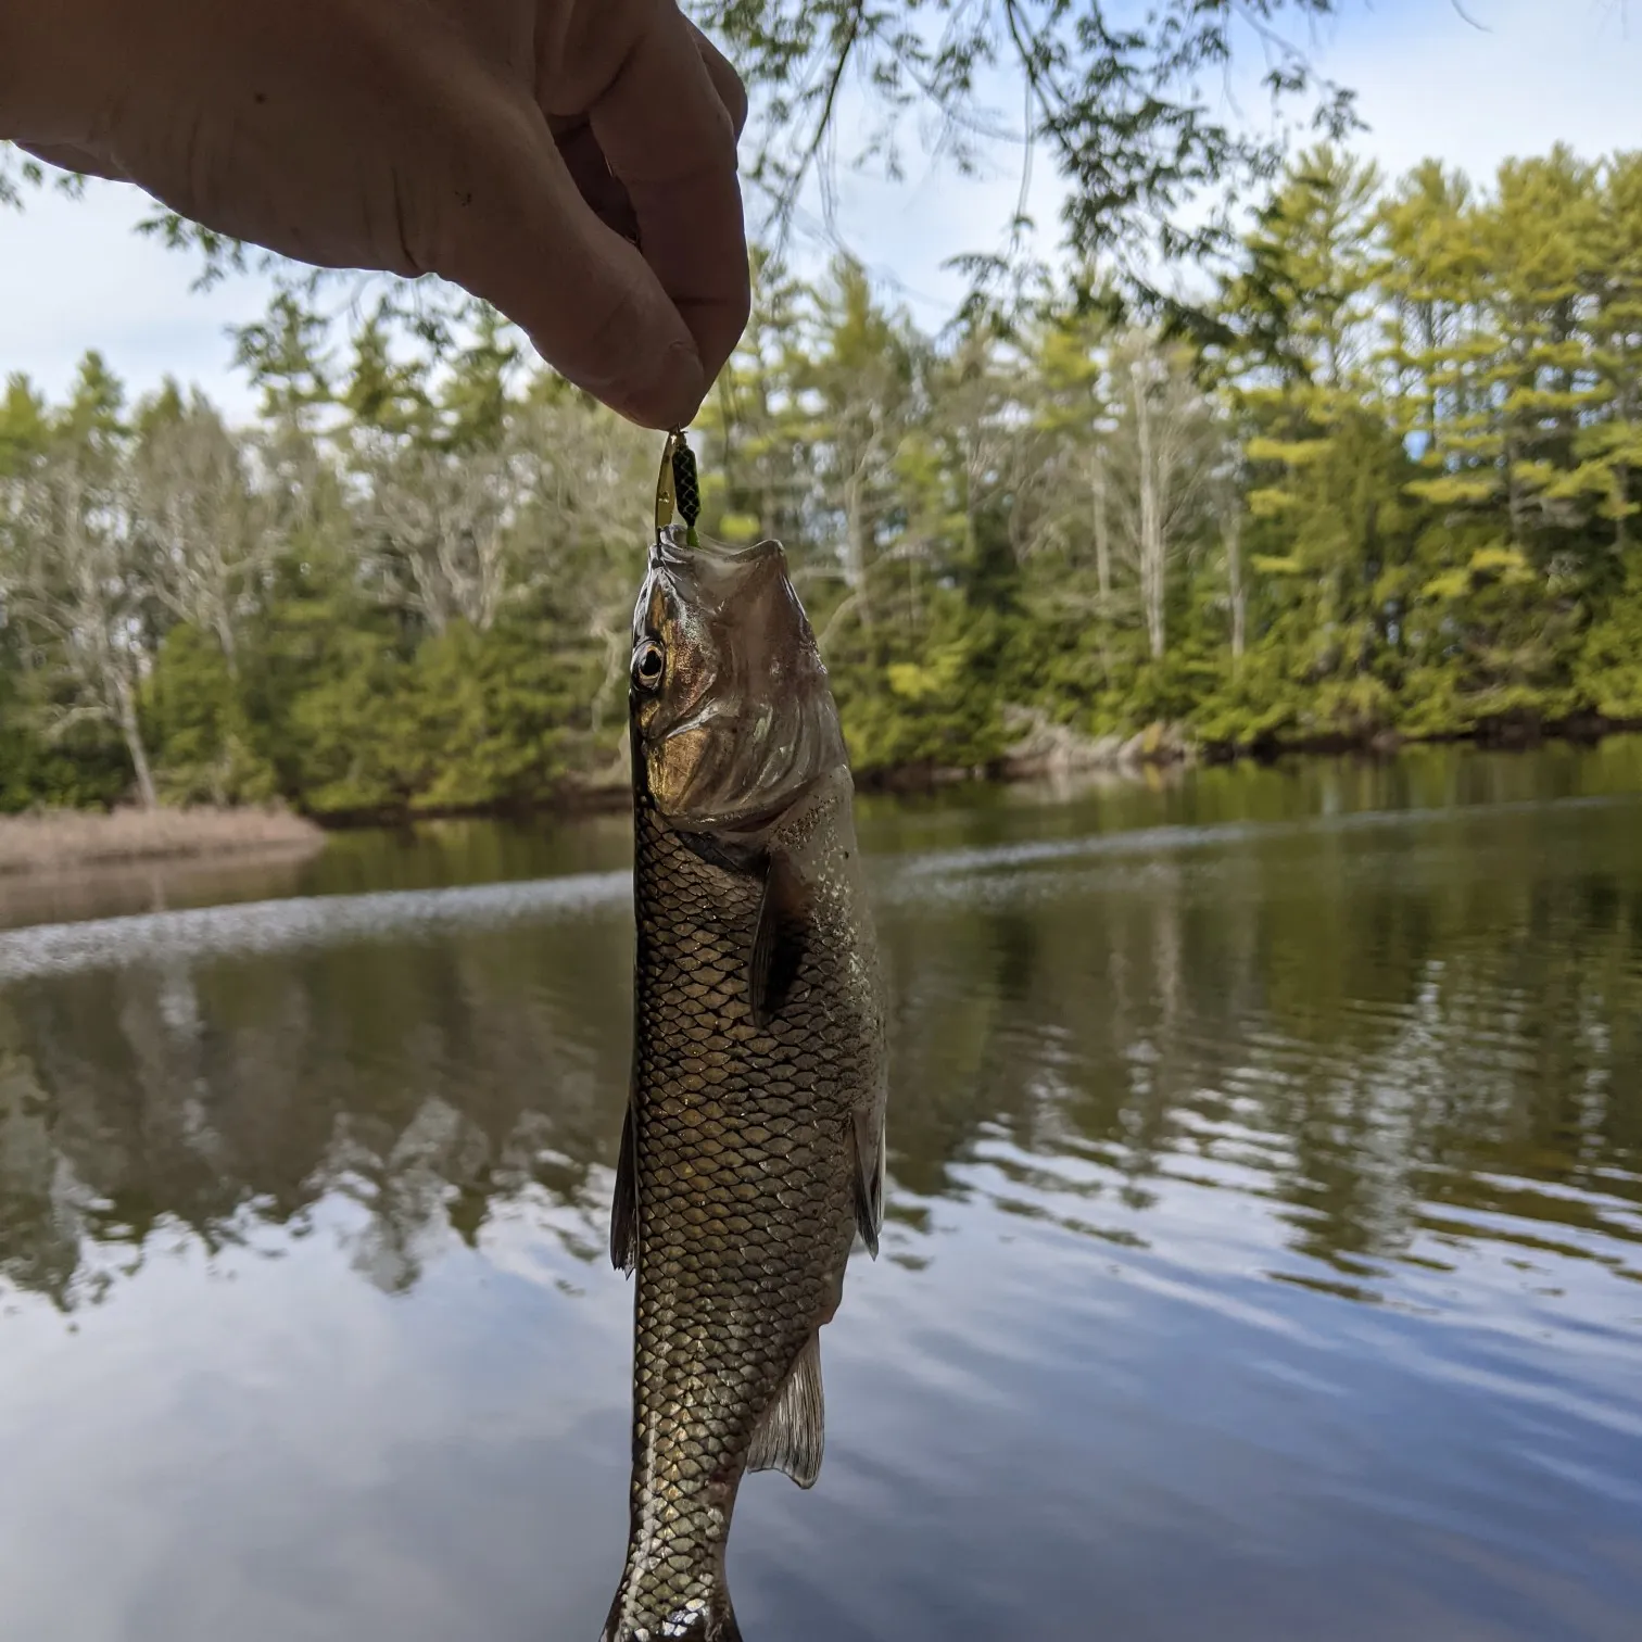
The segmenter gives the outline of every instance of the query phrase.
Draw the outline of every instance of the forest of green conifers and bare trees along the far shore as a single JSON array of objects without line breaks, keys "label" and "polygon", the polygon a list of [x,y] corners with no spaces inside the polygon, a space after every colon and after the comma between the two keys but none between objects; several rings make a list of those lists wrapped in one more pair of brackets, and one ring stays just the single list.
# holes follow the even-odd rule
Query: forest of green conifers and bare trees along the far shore
[{"label": "forest of green conifers and bare trees along the far shore", "polygon": [[[926,332],[757,263],[703,529],[788,548],[857,773],[1031,727],[1210,757],[1642,721],[1642,153],[1289,161],[1190,300],[1098,264]],[[0,811],[619,787],[660,440],[496,315],[281,292],[258,415],[0,397]],[[0,361],[3,365],[3,361]]]}]

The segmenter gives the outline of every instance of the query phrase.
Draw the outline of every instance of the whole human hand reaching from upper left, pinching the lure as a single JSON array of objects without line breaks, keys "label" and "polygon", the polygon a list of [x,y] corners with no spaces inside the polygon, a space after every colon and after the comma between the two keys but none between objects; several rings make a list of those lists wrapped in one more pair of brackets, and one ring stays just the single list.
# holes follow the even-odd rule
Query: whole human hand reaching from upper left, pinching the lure
[{"label": "whole human hand reaching from upper left, pinching the lure", "polygon": [[747,322],[744,120],[677,0],[0,0],[0,136],[305,263],[440,274],[655,429]]}]

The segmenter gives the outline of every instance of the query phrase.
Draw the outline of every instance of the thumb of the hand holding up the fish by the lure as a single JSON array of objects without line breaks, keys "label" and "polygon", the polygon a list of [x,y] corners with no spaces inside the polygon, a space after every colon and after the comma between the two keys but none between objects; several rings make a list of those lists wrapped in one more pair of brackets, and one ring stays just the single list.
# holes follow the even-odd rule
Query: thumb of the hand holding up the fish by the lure
[{"label": "thumb of the hand holding up the fish by the lure", "polygon": [[427,266],[506,314],[553,369],[631,422],[683,427],[706,374],[650,264],[581,197],[535,108],[496,136],[452,187]]}]

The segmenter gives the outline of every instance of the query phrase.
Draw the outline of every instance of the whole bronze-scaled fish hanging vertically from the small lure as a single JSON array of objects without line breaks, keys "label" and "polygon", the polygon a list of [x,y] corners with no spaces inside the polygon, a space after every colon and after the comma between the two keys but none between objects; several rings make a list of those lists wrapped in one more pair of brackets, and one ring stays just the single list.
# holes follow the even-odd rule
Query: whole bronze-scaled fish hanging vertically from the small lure
[{"label": "whole bronze-scaled fish hanging vertically from the small lure", "polygon": [[778,542],[658,532],[634,608],[627,1557],[603,1642],[741,1642],[747,1471],[821,1470],[819,1332],[877,1258],[883,970],[837,706]]}]

